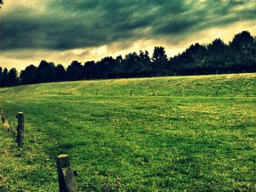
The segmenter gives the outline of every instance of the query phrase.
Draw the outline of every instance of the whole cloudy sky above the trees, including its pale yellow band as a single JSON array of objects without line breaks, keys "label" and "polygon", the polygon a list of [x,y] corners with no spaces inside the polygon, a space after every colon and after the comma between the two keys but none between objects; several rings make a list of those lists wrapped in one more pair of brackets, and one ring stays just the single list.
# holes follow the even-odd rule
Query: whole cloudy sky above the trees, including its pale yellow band
[{"label": "whole cloudy sky above the trees, including its pale yellow band", "polygon": [[77,60],[256,35],[255,0],[5,0],[0,9],[0,66],[20,71],[42,59]]}]

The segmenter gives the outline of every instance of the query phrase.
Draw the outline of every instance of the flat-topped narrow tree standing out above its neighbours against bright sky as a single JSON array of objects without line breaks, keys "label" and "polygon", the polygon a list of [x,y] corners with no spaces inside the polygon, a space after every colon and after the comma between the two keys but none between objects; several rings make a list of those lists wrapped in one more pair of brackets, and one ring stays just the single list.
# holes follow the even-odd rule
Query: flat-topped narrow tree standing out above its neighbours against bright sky
[{"label": "flat-topped narrow tree standing out above its neighbours against bright sky", "polygon": [[168,66],[167,55],[165,54],[165,47],[154,47],[152,56],[152,72],[165,74]]}]

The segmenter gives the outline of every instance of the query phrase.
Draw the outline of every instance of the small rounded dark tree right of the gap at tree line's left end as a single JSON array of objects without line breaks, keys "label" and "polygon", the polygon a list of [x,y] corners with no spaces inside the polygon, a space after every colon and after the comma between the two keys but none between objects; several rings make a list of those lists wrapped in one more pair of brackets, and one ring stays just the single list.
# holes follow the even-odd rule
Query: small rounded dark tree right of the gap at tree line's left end
[{"label": "small rounded dark tree right of the gap at tree line's left end", "polygon": [[20,84],[26,85],[26,84],[33,84],[37,81],[35,80],[37,67],[34,65],[29,65],[26,67],[26,69],[22,70],[20,72]]}]

